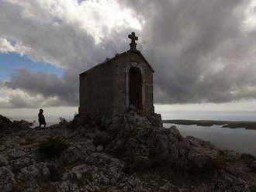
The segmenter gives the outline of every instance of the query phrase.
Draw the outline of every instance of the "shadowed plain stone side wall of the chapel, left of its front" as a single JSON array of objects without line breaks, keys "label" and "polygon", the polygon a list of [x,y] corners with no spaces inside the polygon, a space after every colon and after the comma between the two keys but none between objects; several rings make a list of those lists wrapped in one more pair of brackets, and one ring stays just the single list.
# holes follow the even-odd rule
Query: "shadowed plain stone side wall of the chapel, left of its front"
[{"label": "shadowed plain stone side wall of the chapel, left of its front", "polygon": [[80,75],[80,115],[112,115],[113,77],[113,66],[109,63]]}]

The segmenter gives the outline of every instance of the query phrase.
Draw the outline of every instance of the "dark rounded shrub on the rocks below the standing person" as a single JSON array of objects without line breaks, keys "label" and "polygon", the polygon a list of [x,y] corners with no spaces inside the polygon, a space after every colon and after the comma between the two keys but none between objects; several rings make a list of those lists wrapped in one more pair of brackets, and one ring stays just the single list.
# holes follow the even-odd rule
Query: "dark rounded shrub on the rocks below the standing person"
[{"label": "dark rounded shrub on the rocks below the standing person", "polygon": [[48,138],[45,141],[39,143],[38,148],[40,155],[46,159],[59,156],[64,149],[67,149],[68,145],[61,138]]}]

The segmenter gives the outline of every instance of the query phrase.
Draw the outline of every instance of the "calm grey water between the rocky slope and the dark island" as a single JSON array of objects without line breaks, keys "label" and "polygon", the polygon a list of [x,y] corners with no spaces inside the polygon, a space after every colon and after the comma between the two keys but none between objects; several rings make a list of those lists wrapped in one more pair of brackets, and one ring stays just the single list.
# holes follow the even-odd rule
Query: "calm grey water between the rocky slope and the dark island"
[{"label": "calm grey water between the rocky slope and the dark island", "polygon": [[[164,123],[164,127],[171,125]],[[176,125],[183,136],[194,136],[212,142],[220,149],[230,149],[239,153],[251,153],[256,156],[256,130],[221,128],[196,125]]]}]

